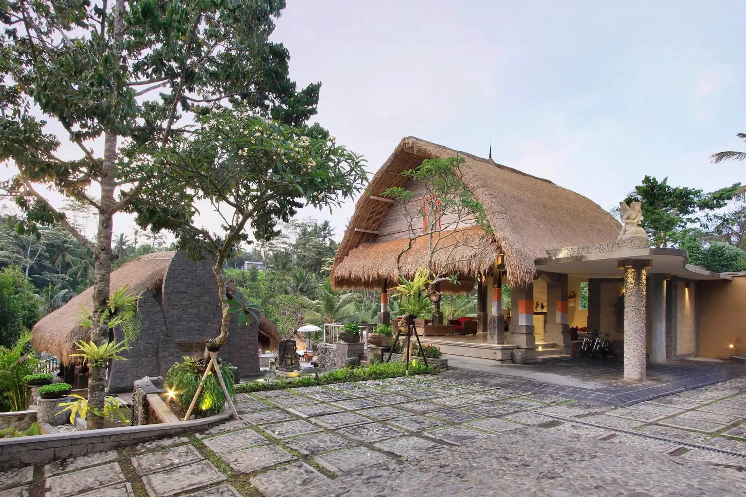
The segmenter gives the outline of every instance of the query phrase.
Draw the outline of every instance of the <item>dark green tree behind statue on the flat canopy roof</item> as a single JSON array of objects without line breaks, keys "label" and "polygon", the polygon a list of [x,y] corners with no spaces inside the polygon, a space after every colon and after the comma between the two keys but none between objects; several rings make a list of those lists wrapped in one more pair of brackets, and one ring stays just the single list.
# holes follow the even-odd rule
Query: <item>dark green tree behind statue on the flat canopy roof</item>
[{"label": "dark green tree behind statue on the flat canopy roof", "polygon": [[627,195],[625,203],[642,202],[642,227],[653,247],[670,247],[680,241],[677,233],[699,224],[707,212],[720,209],[742,192],[741,183],[704,193],[686,186],[671,186],[668,178],[658,181],[645,176],[642,184]]}]

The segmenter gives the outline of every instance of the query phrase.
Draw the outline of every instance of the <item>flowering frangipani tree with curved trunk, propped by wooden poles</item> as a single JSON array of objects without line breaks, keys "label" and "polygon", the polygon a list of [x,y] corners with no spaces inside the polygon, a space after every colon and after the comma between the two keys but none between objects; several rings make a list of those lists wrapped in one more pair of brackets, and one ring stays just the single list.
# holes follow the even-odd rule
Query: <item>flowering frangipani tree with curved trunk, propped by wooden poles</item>
[{"label": "flowering frangipani tree with curved trunk, propped by wooden poles", "polygon": [[[318,124],[290,127],[235,110],[206,112],[198,122],[191,136],[175,139],[163,154],[132,157],[157,169],[153,177],[170,180],[149,183],[148,199],[134,203],[133,211],[142,227],[175,232],[192,257],[216,258],[222,323],[207,346],[218,348],[228,339],[231,311],[225,259],[240,244],[253,243],[250,232],[254,240],[280,235],[278,221],[289,221],[302,206],[322,208],[352,197],[367,175],[363,159],[336,145]],[[223,221],[219,231],[195,222],[195,200],[210,202]]]}]

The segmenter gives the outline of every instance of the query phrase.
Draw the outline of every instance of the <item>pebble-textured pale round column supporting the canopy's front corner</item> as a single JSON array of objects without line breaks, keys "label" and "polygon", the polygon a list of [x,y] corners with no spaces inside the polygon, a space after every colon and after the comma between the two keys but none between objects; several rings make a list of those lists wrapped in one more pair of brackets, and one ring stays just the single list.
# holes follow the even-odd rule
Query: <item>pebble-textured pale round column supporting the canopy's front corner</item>
[{"label": "pebble-textured pale round column supporting the canopy's front corner", "polygon": [[624,263],[624,379],[644,382],[645,364],[645,261]]}]

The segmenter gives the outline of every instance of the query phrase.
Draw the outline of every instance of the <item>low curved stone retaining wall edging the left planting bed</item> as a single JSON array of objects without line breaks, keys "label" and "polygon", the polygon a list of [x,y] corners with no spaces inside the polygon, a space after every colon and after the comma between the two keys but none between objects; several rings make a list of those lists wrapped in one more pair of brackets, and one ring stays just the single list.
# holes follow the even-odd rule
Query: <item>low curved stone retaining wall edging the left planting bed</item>
[{"label": "low curved stone retaining wall edging the left planting bed", "polygon": [[77,458],[160,438],[178,437],[186,433],[204,431],[230,417],[231,411],[227,409],[221,414],[201,420],[4,438],[0,439],[0,469]]}]

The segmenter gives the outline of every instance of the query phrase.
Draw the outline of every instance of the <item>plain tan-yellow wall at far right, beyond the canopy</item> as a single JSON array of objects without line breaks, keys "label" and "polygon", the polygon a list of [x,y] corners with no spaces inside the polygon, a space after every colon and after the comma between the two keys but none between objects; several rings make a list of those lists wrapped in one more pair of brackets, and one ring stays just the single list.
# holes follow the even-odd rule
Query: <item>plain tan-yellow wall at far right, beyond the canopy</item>
[{"label": "plain tan-yellow wall at far right, beyond the canopy", "polygon": [[746,355],[746,276],[699,285],[700,356]]}]

